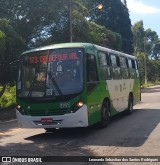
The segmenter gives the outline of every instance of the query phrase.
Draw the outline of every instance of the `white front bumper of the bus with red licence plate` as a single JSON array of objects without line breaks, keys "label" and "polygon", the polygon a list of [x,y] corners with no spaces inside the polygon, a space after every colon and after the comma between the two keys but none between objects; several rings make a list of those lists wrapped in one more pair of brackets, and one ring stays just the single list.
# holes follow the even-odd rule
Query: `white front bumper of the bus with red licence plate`
[{"label": "white front bumper of the bus with red licence plate", "polygon": [[16,110],[19,126],[23,128],[74,128],[88,126],[87,106],[83,105],[75,113],[57,116],[27,116]]}]

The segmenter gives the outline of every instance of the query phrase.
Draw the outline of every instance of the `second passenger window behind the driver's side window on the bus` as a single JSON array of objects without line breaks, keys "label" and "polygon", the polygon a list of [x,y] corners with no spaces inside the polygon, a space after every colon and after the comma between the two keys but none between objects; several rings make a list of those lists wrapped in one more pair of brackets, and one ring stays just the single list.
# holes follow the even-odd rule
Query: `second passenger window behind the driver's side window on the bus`
[{"label": "second passenger window behind the driver's side window on the bus", "polygon": [[111,75],[113,79],[120,79],[121,78],[121,72],[120,72],[120,61],[119,57],[117,55],[111,54]]}]

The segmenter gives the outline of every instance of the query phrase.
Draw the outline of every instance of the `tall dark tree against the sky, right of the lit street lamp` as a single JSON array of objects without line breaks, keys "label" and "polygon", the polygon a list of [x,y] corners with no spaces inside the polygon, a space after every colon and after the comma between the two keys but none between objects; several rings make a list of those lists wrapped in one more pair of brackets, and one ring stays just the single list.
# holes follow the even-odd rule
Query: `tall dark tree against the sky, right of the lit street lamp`
[{"label": "tall dark tree against the sky, right of the lit street lamp", "polygon": [[92,11],[91,20],[97,24],[103,25],[113,32],[117,32],[122,37],[122,51],[133,53],[133,36],[131,31],[131,20],[127,5],[120,0],[92,0],[89,5],[103,4],[103,10]]}]

